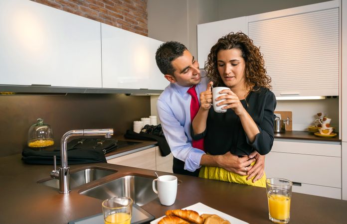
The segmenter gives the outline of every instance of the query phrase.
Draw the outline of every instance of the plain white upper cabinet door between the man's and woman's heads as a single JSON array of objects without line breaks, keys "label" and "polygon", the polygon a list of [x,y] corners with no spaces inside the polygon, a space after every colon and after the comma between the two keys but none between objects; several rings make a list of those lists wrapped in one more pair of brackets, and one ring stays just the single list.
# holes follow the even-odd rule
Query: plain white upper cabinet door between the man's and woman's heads
[{"label": "plain white upper cabinet door between the man's and woman's heads", "polygon": [[242,31],[247,34],[247,17],[225,19],[197,25],[197,60],[203,68],[211,47],[217,40],[230,33]]}]

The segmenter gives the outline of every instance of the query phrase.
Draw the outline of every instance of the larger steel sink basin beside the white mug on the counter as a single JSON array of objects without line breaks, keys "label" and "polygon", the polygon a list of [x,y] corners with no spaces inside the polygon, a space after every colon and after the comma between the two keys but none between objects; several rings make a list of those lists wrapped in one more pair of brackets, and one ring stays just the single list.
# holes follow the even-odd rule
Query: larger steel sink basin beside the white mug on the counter
[{"label": "larger steel sink basin beside the white mug on the counter", "polygon": [[116,196],[130,197],[135,204],[143,206],[158,198],[152,189],[153,180],[154,178],[129,175],[88,189],[80,194],[101,200]]}]

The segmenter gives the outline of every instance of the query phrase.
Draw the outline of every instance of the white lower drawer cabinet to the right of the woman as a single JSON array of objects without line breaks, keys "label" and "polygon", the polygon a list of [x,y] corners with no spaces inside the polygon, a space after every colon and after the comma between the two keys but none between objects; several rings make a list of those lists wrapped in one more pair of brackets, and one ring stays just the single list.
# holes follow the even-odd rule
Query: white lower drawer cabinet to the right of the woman
[{"label": "white lower drawer cabinet to the right of the woman", "polygon": [[341,145],[329,143],[274,141],[266,155],[268,178],[293,183],[293,192],[341,199]]}]

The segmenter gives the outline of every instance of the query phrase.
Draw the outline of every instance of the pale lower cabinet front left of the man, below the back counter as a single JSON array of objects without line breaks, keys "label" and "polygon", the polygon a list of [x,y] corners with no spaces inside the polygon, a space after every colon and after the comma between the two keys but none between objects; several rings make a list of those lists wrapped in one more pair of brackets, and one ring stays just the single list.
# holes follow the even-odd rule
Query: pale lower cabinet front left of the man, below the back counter
[{"label": "pale lower cabinet front left of the man, below the back counter", "polygon": [[173,173],[173,156],[161,156],[158,146],[107,160],[108,163]]}]

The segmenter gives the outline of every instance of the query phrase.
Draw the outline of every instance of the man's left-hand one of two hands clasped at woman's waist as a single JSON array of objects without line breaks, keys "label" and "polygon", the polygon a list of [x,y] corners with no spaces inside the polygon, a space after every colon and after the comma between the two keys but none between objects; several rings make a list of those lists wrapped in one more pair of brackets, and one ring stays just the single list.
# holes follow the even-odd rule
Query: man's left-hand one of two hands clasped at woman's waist
[{"label": "man's left-hand one of two hands clasped at woman's waist", "polygon": [[247,156],[238,157],[230,152],[219,155],[217,159],[219,167],[242,176],[248,175],[247,170],[249,169],[249,165],[254,161],[255,158],[249,158]]}]

